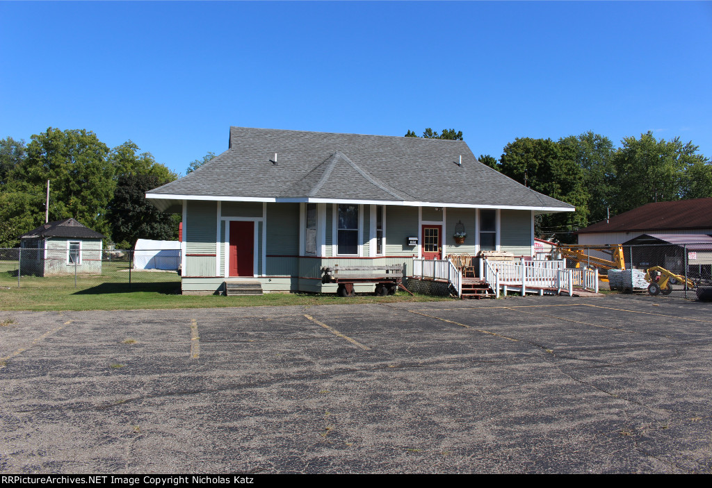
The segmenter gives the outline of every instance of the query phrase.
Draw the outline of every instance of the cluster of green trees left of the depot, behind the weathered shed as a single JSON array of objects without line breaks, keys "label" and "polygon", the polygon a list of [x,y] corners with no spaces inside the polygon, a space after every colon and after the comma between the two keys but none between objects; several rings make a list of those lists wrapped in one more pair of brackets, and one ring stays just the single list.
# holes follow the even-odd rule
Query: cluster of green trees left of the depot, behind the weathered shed
[{"label": "cluster of green trees left of the depot, behind the weathered shed", "polygon": [[73,217],[124,249],[138,238],[177,239],[180,217],[145,193],[178,176],[132,141],[110,149],[85,129],[0,139],[0,247],[44,223],[47,180],[50,222]]}]

